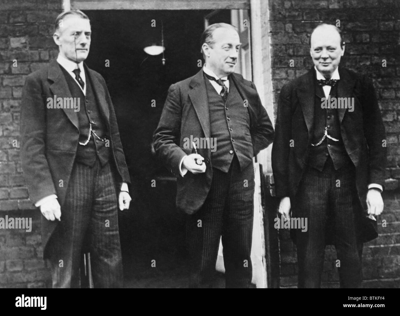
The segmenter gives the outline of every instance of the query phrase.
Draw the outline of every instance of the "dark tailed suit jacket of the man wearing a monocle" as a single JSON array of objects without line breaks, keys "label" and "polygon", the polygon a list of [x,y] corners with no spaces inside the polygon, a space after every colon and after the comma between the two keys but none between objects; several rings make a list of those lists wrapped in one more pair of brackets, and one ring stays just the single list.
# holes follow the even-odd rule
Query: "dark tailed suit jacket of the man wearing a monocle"
[{"label": "dark tailed suit jacket of the man wearing a monocle", "polygon": [[[106,135],[110,137],[111,160],[114,161],[118,173],[116,181],[130,183],[114,107],[106,83],[98,72],[89,69],[85,64],[84,67],[88,74],[86,80],[92,82],[106,125]],[[57,98],[72,97],[56,60],[26,77],[21,101],[21,159],[30,199],[36,203],[43,197],[56,194],[62,210],[78,148],[79,127],[78,115],[74,109],[47,108],[47,99],[54,95]],[[82,111],[82,102],[80,106]],[[62,184],[60,180],[63,181]],[[57,223],[57,220],[48,221],[42,218],[44,250]]]}]

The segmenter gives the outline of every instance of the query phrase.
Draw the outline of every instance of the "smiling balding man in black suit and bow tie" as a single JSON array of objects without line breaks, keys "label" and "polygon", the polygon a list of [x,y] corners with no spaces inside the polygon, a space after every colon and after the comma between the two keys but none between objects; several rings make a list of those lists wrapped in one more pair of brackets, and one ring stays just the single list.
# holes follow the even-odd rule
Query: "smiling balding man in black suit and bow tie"
[{"label": "smiling balding man in black suit and bow tie", "polygon": [[340,30],[321,24],[310,44],[315,66],[282,87],[278,101],[279,213],[290,217],[292,207],[292,217],[308,219],[306,231],[294,231],[299,288],[320,287],[326,240],[336,248],[340,286],[357,288],[362,243],[376,237],[366,228],[383,210],[385,129],[372,81],[339,66]]}]

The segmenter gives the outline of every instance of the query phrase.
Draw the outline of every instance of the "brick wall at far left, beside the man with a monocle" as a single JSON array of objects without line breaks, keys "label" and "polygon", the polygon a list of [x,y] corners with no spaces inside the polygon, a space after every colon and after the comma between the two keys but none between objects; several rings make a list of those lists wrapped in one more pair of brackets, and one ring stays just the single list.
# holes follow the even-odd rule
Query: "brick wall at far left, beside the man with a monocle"
[{"label": "brick wall at far left, beside the man with a monocle", "polygon": [[25,76],[58,54],[52,32],[61,8],[61,0],[0,0],[0,217],[30,217],[33,226],[31,232],[0,229],[0,287],[50,285],[40,212],[22,177],[19,119]]}]

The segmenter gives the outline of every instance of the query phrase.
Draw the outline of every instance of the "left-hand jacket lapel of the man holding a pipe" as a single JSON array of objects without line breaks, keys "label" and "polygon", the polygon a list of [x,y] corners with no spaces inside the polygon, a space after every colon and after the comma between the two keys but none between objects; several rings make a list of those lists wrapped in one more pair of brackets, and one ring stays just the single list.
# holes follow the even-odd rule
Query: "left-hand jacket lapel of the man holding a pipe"
[{"label": "left-hand jacket lapel of the man holding a pipe", "polygon": [[189,92],[194,110],[197,113],[204,136],[210,137],[210,112],[208,110],[207,88],[204,82],[203,70],[200,70],[190,81]]}]

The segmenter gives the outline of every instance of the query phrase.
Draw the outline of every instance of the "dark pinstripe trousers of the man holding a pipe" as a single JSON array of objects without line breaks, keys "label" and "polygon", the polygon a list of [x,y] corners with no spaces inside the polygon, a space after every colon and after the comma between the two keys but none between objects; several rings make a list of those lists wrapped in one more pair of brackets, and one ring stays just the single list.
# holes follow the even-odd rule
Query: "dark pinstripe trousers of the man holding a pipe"
[{"label": "dark pinstripe trousers of the man holding a pipe", "polygon": [[212,287],[220,237],[226,288],[250,288],[254,169],[240,170],[235,155],[228,173],[213,168],[210,192],[200,210],[188,215],[186,241],[191,262],[189,286]]}]

